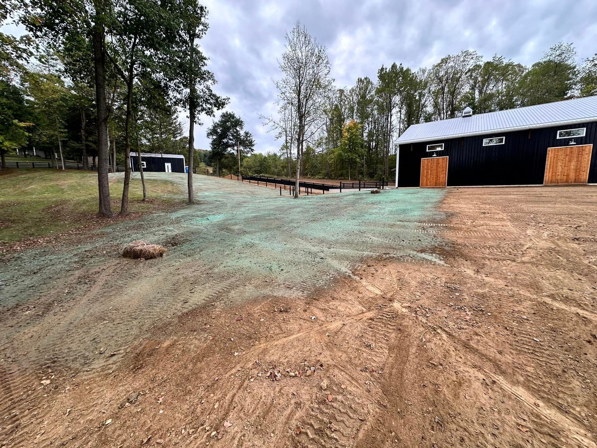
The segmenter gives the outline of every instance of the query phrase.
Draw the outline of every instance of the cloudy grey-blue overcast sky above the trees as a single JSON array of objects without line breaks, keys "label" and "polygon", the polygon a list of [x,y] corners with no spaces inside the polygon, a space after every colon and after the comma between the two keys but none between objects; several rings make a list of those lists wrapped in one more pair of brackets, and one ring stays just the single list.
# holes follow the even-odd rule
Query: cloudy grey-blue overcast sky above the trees
[{"label": "cloudy grey-blue overcast sky above the trees", "polygon": [[[500,54],[524,65],[551,45],[571,42],[578,61],[597,51],[596,0],[207,0],[210,29],[202,48],[216,75],[215,90],[230,97],[227,110],[244,119],[256,151],[277,151],[259,115],[272,115],[281,77],[284,33],[299,20],[328,49],[338,88],[359,76],[375,80],[381,65],[430,66],[464,49],[485,58]],[[12,29],[11,29],[12,28]],[[14,27],[4,27],[14,32]],[[180,116],[184,132],[186,115]],[[195,128],[195,146],[209,149],[213,122]]]}]

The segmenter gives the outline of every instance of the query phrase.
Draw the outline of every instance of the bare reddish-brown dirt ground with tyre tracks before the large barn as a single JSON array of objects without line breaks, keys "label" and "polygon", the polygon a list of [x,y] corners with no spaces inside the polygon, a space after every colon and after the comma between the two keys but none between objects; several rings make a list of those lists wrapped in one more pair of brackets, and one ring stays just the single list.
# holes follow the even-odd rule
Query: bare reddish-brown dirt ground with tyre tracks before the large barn
[{"label": "bare reddish-brown dirt ground with tyre tracks before the large barn", "polygon": [[[214,291],[87,369],[3,355],[0,446],[596,447],[596,195],[450,189],[416,230],[439,257],[376,248],[329,286]],[[91,289],[122,266],[96,269]],[[200,274],[181,268],[181,300]]]}]

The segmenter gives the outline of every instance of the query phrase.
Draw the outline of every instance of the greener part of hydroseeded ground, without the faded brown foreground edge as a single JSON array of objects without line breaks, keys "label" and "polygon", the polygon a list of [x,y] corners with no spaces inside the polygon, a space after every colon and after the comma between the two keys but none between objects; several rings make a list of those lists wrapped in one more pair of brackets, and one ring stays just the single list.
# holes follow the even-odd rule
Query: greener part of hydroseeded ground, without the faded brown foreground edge
[{"label": "greener part of hydroseeded ground, without the faded brown foreground edge", "polygon": [[[146,176],[173,179],[181,187],[186,183],[183,174]],[[294,200],[284,189],[280,196],[279,189],[217,177],[196,176],[195,185],[195,205],[110,225],[79,246],[27,250],[4,260],[2,302],[12,302],[7,300],[11,286],[24,265],[29,266],[28,277],[44,277],[47,266],[61,275],[83,267],[81,263],[95,265],[115,257],[113,250],[103,254],[96,248],[124,246],[133,240],[168,247],[174,238],[177,245],[168,247],[168,263],[198,260],[216,271],[272,278],[291,269],[284,281],[320,286],[368,257],[426,250],[436,241],[422,231],[421,223],[442,219],[436,205],[444,193],[437,189],[301,195]],[[92,250],[92,259],[84,256]]]}]

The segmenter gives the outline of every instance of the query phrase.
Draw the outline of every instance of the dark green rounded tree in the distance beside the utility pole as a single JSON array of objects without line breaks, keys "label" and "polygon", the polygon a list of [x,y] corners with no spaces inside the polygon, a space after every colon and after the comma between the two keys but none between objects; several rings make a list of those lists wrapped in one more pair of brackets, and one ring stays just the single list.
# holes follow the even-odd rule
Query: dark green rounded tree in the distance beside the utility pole
[{"label": "dark green rounded tree in the distance beside the utility pole", "polygon": [[255,141],[249,131],[244,130],[245,123],[234,112],[223,112],[220,119],[207,130],[211,139],[211,157],[216,159],[216,174],[220,175],[220,162],[231,149],[236,149],[238,171],[241,175],[241,154],[253,152]]}]

